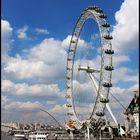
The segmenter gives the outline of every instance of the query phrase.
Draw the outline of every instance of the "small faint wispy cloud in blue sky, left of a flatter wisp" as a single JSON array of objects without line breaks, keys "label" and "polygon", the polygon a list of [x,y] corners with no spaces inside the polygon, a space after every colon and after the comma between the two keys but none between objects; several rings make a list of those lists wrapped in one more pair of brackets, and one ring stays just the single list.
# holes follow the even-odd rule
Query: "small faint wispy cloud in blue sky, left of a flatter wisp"
[{"label": "small faint wispy cloud in blue sky, left of a flatter wisp", "polygon": [[27,37],[27,33],[26,33],[27,30],[28,30],[28,26],[27,25],[25,25],[22,28],[18,29],[17,30],[17,37],[19,39],[27,39],[28,38]]}]

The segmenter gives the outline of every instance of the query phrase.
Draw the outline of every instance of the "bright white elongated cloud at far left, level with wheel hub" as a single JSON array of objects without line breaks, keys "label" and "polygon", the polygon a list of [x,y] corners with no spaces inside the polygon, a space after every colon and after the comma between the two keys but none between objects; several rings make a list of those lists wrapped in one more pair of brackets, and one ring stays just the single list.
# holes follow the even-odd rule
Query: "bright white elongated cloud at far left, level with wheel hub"
[{"label": "bright white elongated cloud at far left, level with wheel hub", "polygon": [[12,58],[3,68],[4,73],[13,79],[30,79],[34,76],[42,77],[45,74],[46,65],[42,61],[28,61],[20,57]]}]

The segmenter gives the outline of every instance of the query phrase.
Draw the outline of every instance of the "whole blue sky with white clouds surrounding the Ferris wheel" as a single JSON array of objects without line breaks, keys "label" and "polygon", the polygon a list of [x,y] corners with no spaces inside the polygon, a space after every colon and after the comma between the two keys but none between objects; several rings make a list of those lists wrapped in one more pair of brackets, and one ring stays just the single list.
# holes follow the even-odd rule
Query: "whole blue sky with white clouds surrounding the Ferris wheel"
[{"label": "whole blue sky with white clouds surrounding the Ferris wheel", "polygon": [[[132,91],[138,89],[138,0],[3,0],[3,121],[31,120],[33,115],[37,120],[45,120],[46,114],[29,112],[40,107],[59,116],[58,119],[61,115],[65,118],[64,79],[69,39],[80,13],[90,5],[101,7],[111,24],[114,94],[122,102],[127,97],[125,106],[128,105]],[[79,44],[89,45],[97,31],[96,23],[87,22]],[[99,38],[96,39],[92,42],[94,46],[99,44]],[[98,57],[95,59],[98,63]],[[86,90],[90,87],[83,89]],[[123,112],[114,105],[114,113],[118,114],[118,110]],[[16,117],[8,117],[13,112]]]}]

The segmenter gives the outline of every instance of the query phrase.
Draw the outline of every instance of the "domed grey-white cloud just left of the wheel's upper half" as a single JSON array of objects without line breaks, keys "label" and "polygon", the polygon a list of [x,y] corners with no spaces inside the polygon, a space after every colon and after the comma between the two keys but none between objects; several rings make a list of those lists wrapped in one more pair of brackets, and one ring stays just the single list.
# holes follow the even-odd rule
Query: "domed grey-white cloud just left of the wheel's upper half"
[{"label": "domed grey-white cloud just left of the wheel's upper half", "polygon": [[62,48],[61,41],[48,38],[34,46],[30,50],[28,57],[30,60],[41,60],[49,65],[54,65],[66,60],[66,56],[67,52]]}]

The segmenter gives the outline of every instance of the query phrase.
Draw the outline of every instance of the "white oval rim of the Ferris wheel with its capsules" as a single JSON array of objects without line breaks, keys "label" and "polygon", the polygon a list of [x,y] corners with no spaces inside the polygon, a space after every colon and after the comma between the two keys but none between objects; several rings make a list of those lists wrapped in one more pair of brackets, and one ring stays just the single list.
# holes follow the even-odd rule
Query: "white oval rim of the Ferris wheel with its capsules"
[{"label": "white oval rim of the Ferris wheel with its capsules", "polygon": [[[91,8],[88,7],[80,15],[76,26],[74,28],[67,58],[67,71],[66,71],[66,99],[67,99],[67,109],[68,116],[73,121],[75,128],[81,129],[83,123],[78,119],[73,100],[73,68],[74,68],[74,59],[77,49],[78,39],[81,33],[81,30],[84,26],[84,23],[88,19],[93,19],[97,24],[100,32],[101,38],[101,69],[100,69],[100,79],[99,87],[97,89],[97,96],[95,106],[90,115],[91,119],[99,120],[101,116],[104,115],[104,110],[106,106],[106,100],[108,100],[109,90],[111,87],[111,76],[112,76],[112,45],[109,33],[109,24],[107,24],[105,15],[102,13],[100,8]],[[107,52],[108,50],[108,52]],[[110,53],[112,51],[112,53]],[[104,97],[106,100],[101,100],[101,97]],[[101,102],[102,101],[102,102]],[[104,102],[103,102],[104,101]],[[98,114],[98,115],[97,115]]]}]

